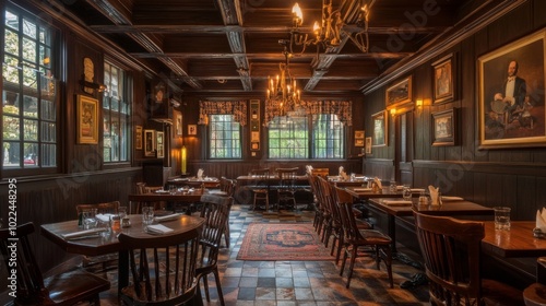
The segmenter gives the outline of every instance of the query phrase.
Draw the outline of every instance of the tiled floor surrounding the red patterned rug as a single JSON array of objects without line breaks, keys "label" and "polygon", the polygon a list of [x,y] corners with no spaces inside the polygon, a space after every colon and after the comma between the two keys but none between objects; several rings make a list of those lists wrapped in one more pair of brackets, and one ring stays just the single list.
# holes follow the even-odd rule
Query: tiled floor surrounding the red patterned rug
[{"label": "tiled floor surrounding the red patterned rug", "polygon": [[[428,287],[411,290],[400,283],[417,270],[394,261],[394,289],[389,287],[384,266],[378,271],[371,259],[358,260],[351,289],[346,278],[340,276],[340,267],[333,261],[240,261],[236,260],[247,227],[252,222],[296,223],[312,222],[309,211],[263,212],[235,205],[230,214],[232,243],[219,256],[222,289],[226,305],[429,305]],[[400,246],[399,250],[404,250]],[[211,276],[211,302],[219,305]],[[102,305],[117,305],[115,291],[102,296]]]}]

